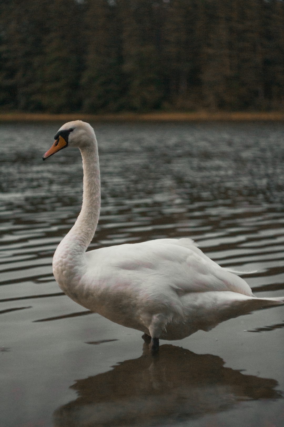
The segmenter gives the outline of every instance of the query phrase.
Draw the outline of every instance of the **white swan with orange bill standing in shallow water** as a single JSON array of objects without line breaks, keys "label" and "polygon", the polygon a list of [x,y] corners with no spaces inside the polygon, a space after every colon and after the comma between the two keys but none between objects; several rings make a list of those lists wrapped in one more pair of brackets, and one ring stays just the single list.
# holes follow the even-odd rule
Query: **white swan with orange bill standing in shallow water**
[{"label": "white swan with orange bill standing in shallow water", "polygon": [[100,214],[98,144],[89,123],[65,123],[43,160],[66,147],[80,149],[83,204],[53,257],[53,274],[73,301],[112,322],[143,332],[156,354],[161,339],[182,339],[281,298],[257,298],[234,270],[222,268],[193,240],[157,239],[86,252]]}]

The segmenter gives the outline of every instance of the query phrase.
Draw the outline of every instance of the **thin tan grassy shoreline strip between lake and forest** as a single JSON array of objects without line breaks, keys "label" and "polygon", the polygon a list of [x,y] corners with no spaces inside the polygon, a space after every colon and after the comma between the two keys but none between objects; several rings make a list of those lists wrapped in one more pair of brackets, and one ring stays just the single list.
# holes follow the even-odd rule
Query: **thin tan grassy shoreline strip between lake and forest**
[{"label": "thin tan grassy shoreline strip between lake and forest", "polygon": [[0,113],[0,122],[51,122],[83,120],[93,122],[205,122],[205,121],[284,121],[284,112],[217,112],[195,113],[152,112],[152,113],[117,113],[117,114],[49,114],[49,113]]}]

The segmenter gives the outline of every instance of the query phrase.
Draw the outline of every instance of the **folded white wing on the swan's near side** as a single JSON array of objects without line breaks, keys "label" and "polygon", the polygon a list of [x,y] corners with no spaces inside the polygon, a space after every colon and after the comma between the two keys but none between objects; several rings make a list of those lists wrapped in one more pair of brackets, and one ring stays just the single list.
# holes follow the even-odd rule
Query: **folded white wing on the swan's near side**
[{"label": "folded white wing on the swan's near side", "polygon": [[161,293],[170,287],[181,294],[232,291],[252,295],[243,279],[222,269],[192,241],[187,241],[187,246],[177,241],[161,239],[111,246],[87,252],[86,255],[93,265],[100,266],[104,281],[110,280],[112,283],[132,283],[135,287],[146,287]]}]

